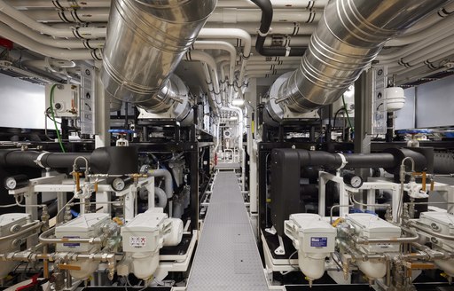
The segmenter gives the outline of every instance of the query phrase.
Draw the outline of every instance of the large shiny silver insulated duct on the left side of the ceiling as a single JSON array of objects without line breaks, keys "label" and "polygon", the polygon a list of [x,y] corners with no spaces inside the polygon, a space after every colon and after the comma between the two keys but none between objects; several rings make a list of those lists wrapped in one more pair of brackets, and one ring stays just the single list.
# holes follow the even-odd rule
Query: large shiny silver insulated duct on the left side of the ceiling
[{"label": "large shiny silver insulated duct on the left side of the ceiling", "polygon": [[179,86],[169,75],[215,4],[215,0],[114,0],[103,59],[106,93],[153,113],[182,102],[184,93],[170,91]]}]

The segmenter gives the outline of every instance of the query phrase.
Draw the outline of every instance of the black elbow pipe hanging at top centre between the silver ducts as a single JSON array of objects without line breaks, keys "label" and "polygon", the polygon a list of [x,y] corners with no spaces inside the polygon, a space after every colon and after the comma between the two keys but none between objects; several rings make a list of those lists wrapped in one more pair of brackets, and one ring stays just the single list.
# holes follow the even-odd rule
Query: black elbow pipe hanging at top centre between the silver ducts
[{"label": "black elbow pipe hanging at top centre between the silver ducts", "polygon": [[255,41],[255,51],[265,57],[301,57],[306,51],[304,47],[263,47],[266,40],[266,35],[270,31],[271,22],[273,21],[273,6],[270,0],[251,0],[262,11],[262,19],[260,20],[259,35]]}]

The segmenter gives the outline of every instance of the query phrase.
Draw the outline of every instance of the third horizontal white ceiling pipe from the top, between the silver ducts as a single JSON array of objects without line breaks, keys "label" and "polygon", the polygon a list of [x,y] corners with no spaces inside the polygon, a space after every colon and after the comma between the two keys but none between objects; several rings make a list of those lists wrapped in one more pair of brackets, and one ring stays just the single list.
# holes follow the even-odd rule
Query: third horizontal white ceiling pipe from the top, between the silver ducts
[{"label": "third horizontal white ceiling pipe from the top, between the silver ducts", "polygon": [[[218,2],[220,3],[220,2]],[[205,24],[205,28],[241,28],[250,35],[256,35],[258,30],[258,24],[254,22],[241,22],[241,23],[220,23],[220,22],[209,22]],[[303,23],[303,22],[277,22],[273,23],[270,28],[270,35],[311,35],[317,28],[315,23]],[[200,35],[199,35],[200,36]]]}]

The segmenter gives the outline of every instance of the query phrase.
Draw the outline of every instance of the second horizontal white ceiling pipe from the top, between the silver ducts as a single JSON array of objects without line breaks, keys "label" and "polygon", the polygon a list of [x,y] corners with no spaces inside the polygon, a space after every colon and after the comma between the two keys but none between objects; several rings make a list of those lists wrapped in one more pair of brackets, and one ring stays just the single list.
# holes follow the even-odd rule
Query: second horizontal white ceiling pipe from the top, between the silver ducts
[{"label": "second horizontal white ceiling pipe from the top, between the silver ducts", "polygon": [[[308,12],[301,9],[275,10],[273,22],[317,22],[322,18],[323,12]],[[260,9],[237,9],[237,8],[216,8],[208,22],[258,22],[262,18]],[[258,24],[257,24],[258,26]]]}]

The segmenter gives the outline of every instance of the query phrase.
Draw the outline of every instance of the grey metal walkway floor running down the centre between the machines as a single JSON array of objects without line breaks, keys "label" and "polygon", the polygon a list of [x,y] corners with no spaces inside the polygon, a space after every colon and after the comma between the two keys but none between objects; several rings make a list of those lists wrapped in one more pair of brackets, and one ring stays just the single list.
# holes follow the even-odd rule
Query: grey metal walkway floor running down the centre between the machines
[{"label": "grey metal walkway floor running down the centre between the machines", "polygon": [[220,171],[187,291],[268,290],[247,209],[233,171]]}]

